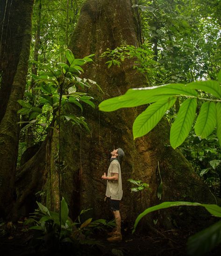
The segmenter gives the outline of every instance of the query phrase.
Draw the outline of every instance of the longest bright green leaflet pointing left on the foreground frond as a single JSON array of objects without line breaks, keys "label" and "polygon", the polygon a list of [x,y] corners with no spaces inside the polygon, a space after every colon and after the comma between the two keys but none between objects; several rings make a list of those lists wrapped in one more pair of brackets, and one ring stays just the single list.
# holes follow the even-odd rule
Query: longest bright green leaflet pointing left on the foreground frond
[{"label": "longest bright green leaflet pointing left on the foreground frond", "polygon": [[182,83],[169,83],[160,86],[129,89],[124,95],[110,98],[100,103],[101,111],[114,111],[122,107],[144,105],[172,96],[188,95],[197,97],[197,91],[190,89]]}]

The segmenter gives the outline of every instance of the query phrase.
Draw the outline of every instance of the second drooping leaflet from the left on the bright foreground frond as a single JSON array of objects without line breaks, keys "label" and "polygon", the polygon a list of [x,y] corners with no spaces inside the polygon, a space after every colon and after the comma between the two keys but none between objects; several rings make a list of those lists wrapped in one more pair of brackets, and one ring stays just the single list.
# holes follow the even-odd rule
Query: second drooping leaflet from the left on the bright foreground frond
[{"label": "second drooping leaflet from the left on the bright foreground frond", "polygon": [[170,132],[170,143],[174,149],[181,145],[188,136],[195,118],[196,107],[197,100],[195,98],[187,98],[180,106]]}]

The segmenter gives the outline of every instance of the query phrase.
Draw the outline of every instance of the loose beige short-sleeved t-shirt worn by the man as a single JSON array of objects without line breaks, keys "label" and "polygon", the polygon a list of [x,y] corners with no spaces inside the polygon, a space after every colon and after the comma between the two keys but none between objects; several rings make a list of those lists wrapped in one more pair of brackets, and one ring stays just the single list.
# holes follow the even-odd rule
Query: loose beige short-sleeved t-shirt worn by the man
[{"label": "loose beige short-sleeved t-shirt worn by the man", "polygon": [[114,173],[118,173],[118,181],[108,181],[106,188],[106,196],[111,197],[113,200],[121,200],[123,196],[122,181],[121,181],[121,166],[118,160],[111,161],[107,171],[107,177],[114,176]]}]

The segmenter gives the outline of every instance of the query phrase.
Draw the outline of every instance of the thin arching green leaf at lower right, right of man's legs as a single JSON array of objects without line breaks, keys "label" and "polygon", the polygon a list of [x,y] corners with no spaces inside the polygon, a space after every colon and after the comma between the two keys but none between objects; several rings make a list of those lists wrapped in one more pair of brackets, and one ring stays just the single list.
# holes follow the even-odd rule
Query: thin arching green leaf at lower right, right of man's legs
[{"label": "thin arching green leaf at lower right, right of man's legs", "polygon": [[142,213],[140,213],[138,215],[138,217],[135,219],[135,224],[134,224],[134,229],[133,229],[133,233],[135,232],[136,226],[139,223],[139,221],[148,213],[152,212],[152,211],[157,211],[160,209],[166,209],[169,207],[174,207],[174,206],[203,206],[207,209],[207,211],[209,211],[211,214],[213,214],[215,217],[219,217],[221,218],[221,207],[216,205],[216,204],[205,204],[205,203],[191,203],[191,202],[164,202],[164,203],[160,203],[157,204],[155,206],[152,206],[150,208],[147,208],[145,211],[143,211]]}]

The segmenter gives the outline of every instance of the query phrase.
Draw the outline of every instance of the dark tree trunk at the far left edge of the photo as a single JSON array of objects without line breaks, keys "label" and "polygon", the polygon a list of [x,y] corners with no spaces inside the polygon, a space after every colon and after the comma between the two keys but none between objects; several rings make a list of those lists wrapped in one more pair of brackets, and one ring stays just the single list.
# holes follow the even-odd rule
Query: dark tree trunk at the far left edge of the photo
[{"label": "dark tree trunk at the far left edge of the photo", "polygon": [[0,8],[0,215],[12,203],[23,97],[31,41],[34,0],[2,1]]}]

